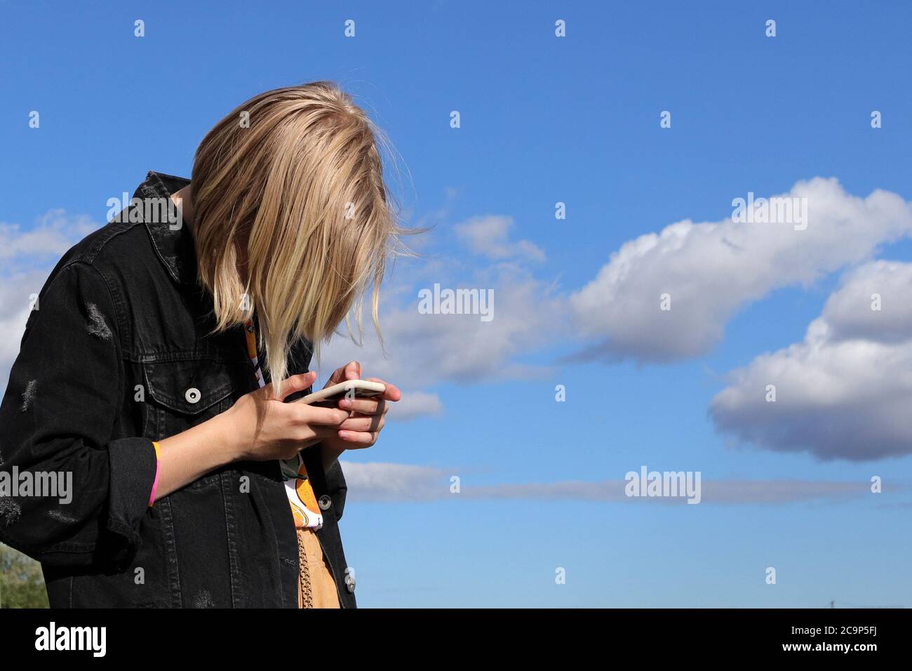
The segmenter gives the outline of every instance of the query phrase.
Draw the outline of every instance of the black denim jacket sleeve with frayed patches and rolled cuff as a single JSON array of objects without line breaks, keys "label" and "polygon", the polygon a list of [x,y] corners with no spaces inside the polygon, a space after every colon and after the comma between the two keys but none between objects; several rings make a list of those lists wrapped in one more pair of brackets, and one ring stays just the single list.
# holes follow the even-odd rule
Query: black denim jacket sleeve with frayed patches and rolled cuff
[{"label": "black denim jacket sleeve with frayed patches and rolled cuff", "polygon": [[42,289],[10,372],[0,540],[50,566],[117,570],[140,545],[157,463],[146,438],[111,439],[125,397],[119,342],[106,282],[70,262]]}]

